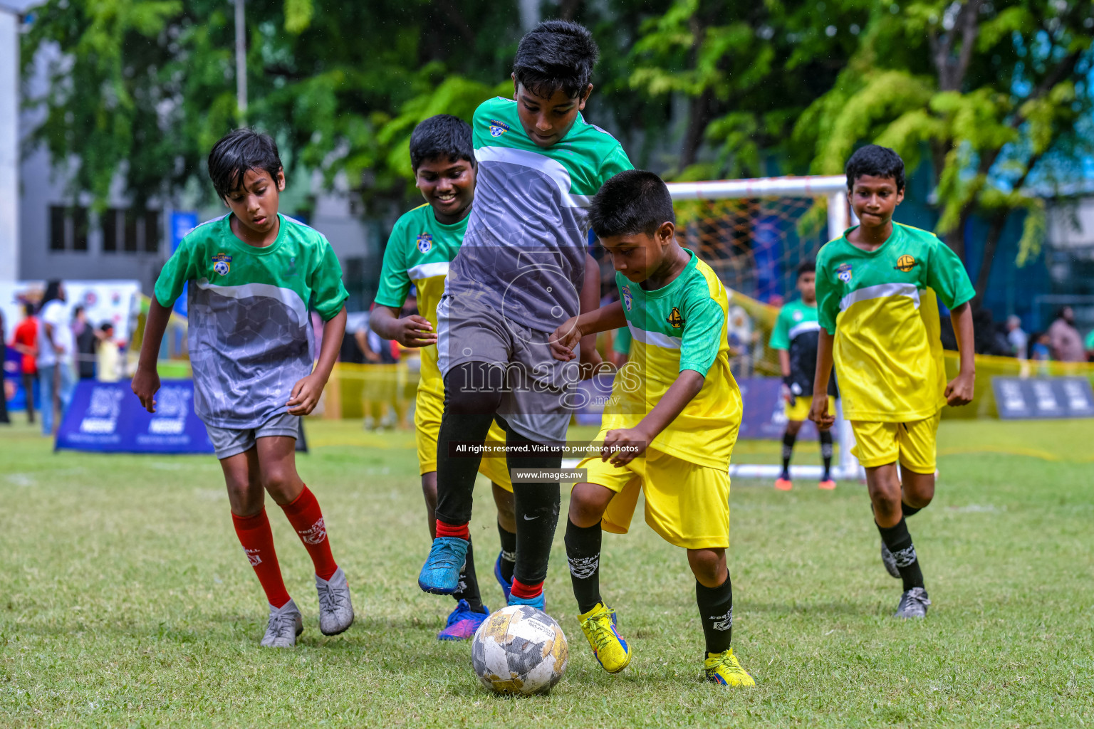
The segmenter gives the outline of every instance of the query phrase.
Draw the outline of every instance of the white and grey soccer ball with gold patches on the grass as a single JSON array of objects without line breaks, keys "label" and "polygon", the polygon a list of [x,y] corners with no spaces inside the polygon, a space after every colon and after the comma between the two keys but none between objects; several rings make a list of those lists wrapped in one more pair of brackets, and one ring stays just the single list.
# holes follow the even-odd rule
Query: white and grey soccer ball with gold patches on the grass
[{"label": "white and grey soccer ball with gold patches on the grass", "polygon": [[566,672],[570,652],[555,619],[531,605],[510,605],[482,621],[472,639],[472,666],[499,694],[549,691]]}]

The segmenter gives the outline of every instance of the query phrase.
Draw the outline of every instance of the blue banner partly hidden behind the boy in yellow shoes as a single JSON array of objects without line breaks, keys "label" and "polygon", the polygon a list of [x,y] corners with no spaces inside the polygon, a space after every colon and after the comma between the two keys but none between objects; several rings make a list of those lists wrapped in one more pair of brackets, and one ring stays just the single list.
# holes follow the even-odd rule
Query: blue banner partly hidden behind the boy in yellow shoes
[{"label": "blue banner partly hidden behind the boy in yellow shoes", "polygon": [[[577,420],[579,425],[600,425],[604,403],[612,395],[613,378],[598,375],[578,384]],[[782,380],[776,377],[743,377],[737,380],[744,414],[737,437],[742,440],[779,440],[787,430],[785,400],[782,399]],[[833,434],[835,435],[835,430]],[[802,424],[800,438],[816,438],[816,425]]]}]

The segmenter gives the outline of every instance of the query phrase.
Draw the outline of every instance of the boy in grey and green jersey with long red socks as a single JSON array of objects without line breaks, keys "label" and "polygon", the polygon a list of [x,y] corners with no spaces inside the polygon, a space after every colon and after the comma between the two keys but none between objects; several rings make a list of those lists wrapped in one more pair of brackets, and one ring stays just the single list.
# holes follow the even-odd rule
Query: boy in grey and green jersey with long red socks
[{"label": "boy in grey and green jersey with long red socks", "polygon": [[[336,635],[353,622],[346,573],[295,466],[300,416],[315,408],[338,358],[348,294],[327,239],[278,212],[284,173],[272,139],[231,132],[209,153],[209,176],[231,212],[190,231],[160,272],[132,390],[155,412],[160,342],[188,283],[194,409],[220,459],[235,533],[269,603],[261,645],[286,648],[295,645],[303,622],[281,578],[266,493],[312,557],[319,630]],[[318,362],[310,307],[326,322]]]}]

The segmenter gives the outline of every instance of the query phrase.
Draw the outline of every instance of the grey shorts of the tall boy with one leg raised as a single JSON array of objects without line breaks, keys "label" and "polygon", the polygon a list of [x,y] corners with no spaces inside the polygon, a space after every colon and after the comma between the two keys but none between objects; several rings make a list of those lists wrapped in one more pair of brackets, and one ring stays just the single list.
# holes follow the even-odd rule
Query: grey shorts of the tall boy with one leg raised
[{"label": "grey shorts of the tall boy with one leg raised", "polygon": [[484,297],[465,293],[441,298],[437,322],[442,375],[465,362],[496,365],[504,381],[498,415],[529,440],[566,440],[581,369],[577,361],[551,355],[548,332],[507,319]]}]

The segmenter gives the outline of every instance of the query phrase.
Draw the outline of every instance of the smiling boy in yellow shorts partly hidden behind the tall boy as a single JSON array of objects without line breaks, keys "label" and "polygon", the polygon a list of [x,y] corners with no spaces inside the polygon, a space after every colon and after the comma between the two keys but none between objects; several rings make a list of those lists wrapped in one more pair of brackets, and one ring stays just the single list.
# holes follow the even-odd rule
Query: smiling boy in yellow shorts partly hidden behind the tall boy
[{"label": "smiling boy in yellow shorts partly hidden behind the tall boy", "polygon": [[[476,166],[470,127],[449,114],[426,119],[410,136],[410,166],[427,204],[405,213],[392,230],[369,326],[384,339],[421,349],[415,439],[429,533],[433,538],[437,536],[437,438],[444,412],[444,380],[437,367],[437,304],[444,293],[449,262],[463,244],[475,197]],[[411,285],[417,290],[419,313],[399,318]],[[487,442],[492,446],[504,445],[505,434],[497,423],[490,426]],[[508,599],[516,553],[513,485],[503,457],[482,458],[478,470],[493,485],[501,536],[494,576]],[[456,608],[438,638],[467,639],[489,613],[479,595],[475,556],[469,546],[459,586],[452,597]]]}]

